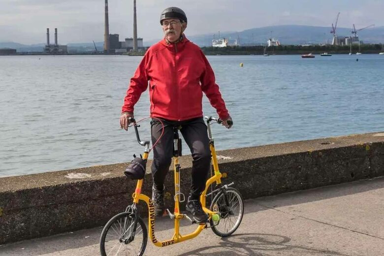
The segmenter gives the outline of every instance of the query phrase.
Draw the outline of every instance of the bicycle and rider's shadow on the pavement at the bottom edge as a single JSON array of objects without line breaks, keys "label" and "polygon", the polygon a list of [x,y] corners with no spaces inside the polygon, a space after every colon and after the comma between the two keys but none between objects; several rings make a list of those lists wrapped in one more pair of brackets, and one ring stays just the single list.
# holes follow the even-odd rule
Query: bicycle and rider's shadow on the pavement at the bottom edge
[{"label": "bicycle and rider's shadow on the pavement at the bottom edge", "polygon": [[[335,251],[289,244],[290,238],[274,234],[236,234],[222,238],[220,245],[207,246],[179,256],[269,256],[283,252],[289,255],[350,256]],[[216,252],[212,252],[216,251]]]}]

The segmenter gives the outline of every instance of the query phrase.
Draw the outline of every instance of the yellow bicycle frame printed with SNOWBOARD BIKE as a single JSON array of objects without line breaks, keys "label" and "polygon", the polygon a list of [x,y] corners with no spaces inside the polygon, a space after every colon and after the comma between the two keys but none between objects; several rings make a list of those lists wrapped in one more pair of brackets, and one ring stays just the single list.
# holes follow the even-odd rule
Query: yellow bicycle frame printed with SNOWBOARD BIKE
[{"label": "yellow bicycle frame printed with SNOWBOARD BIKE", "polygon": [[[208,208],[206,208],[206,205],[205,205],[206,204],[206,201],[205,201],[206,193],[208,191],[209,186],[211,184],[213,184],[214,182],[216,182],[217,184],[221,184],[221,178],[222,178],[222,174],[219,171],[219,165],[217,162],[217,156],[216,156],[216,151],[215,151],[215,146],[214,146],[213,141],[210,142],[210,150],[211,150],[211,154],[212,154],[212,163],[213,163],[215,175],[213,175],[210,179],[207,180],[207,182],[205,184],[205,190],[200,195],[201,206],[203,208],[203,211],[208,214],[209,219],[211,219],[212,215],[216,214],[217,212],[212,212]],[[148,153],[144,153],[143,159],[148,159]],[[175,219],[175,232],[173,234],[173,237],[170,240],[158,241],[158,239],[156,239],[154,205],[152,203],[152,200],[148,196],[141,193],[141,187],[143,185],[142,179],[137,181],[136,190],[132,195],[134,203],[138,203],[139,200],[143,200],[148,205],[148,228],[149,228],[148,234],[149,234],[149,237],[150,237],[152,243],[154,243],[158,247],[165,247],[168,245],[173,245],[176,243],[180,243],[180,242],[192,239],[192,238],[196,237],[198,234],[200,234],[200,232],[206,226],[205,223],[199,224],[194,232],[192,232],[191,234],[187,234],[187,235],[181,235],[179,232],[180,221],[185,217],[185,215],[180,213],[180,205],[179,205],[179,203],[180,203],[180,196],[179,196],[179,194],[180,194],[180,182],[179,182],[180,181],[180,179],[179,179],[180,173],[179,173],[179,168],[178,168],[179,159],[178,159],[178,157],[174,157],[173,159],[174,159],[173,161],[174,161],[174,177],[175,177],[175,195],[177,195],[177,196],[174,197],[175,198],[175,209],[174,209],[174,213],[173,213],[174,219]]]}]

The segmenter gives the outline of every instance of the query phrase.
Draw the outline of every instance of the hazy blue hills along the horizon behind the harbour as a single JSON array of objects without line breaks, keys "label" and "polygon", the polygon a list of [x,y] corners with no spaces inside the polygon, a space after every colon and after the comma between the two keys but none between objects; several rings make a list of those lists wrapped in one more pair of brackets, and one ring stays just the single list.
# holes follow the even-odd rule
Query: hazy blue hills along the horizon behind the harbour
[{"label": "hazy blue hills along the horizon behind the harbour", "polygon": [[[358,29],[358,28],[357,28]],[[273,37],[280,41],[281,44],[324,44],[332,42],[332,34],[329,27],[313,27],[313,26],[299,26],[299,25],[281,25],[271,26],[263,28],[255,28],[250,30],[244,30],[241,32],[220,32],[220,37],[228,39],[240,39],[241,45],[260,45],[266,44],[268,38]],[[337,34],[339,36],[351,35],[351,29],[338,28]],[[201,35],[188,35],[188,38],[199,45],[212,46],[214,32],[210,34]],[[384,26],[365,29],[358,32],[360,40],[364,43],[384,43]],[[218,37],[216,32],[215,37]],[[144,46],[151,46],[158,42],[159,39],[145,40]],[[97,50],[101,51],[103,48],[103,42],[95,42]],[[24,45],[15,42],[0,42],[0,48],[13,48],[18,52],[27,51],[43,51],[44,43],[34,45]],[[94,51],[95,47],[93,42],[89,43],[69,43],[67,44],[68,50],[77,51]]]}]

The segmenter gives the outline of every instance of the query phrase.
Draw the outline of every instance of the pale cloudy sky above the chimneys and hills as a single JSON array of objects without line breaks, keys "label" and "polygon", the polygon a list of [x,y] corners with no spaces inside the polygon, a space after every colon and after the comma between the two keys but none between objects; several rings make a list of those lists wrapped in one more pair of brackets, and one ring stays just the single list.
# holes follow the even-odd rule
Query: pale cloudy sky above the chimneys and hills
[{"label": "pale cloudy sky above the chimneys and hills", "polygon": [[[51,42],[58,28],[59,44],[103,41],[104,0],[1,0],[0,42]],[[108,0],[109,32],[120,41],[133,36],[133,0]],[[170,6],[188,17],[186,34],[214,34],[275,25],[356,29],[384,26],[384,0],[136,0],[138,36],[162,38],[160,13]]]}]

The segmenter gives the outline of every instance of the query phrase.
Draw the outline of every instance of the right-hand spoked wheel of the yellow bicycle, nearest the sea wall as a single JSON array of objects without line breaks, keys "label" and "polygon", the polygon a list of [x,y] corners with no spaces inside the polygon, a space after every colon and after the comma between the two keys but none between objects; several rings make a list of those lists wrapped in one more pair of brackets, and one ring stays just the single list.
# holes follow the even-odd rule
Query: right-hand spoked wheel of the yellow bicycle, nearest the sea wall
[{"label": "right-hand spoked wheel of the yellow bicycle, nearest the sea wall", "polygon": [[219,192],[211,203],[210,210],[218,212],[220,220],[210,220],[212,231],[218,236],[229,236],[239,227],[244,214],[244,203],[240,192],[234,188],[226,190],[228,203],[225,202],[224,192]]}]

